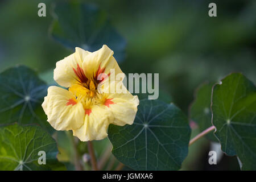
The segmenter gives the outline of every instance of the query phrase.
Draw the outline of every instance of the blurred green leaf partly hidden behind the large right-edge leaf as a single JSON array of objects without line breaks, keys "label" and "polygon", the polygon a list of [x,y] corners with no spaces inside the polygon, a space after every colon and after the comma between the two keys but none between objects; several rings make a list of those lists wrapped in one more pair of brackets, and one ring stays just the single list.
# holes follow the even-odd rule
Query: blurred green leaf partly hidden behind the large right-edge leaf
[{"label": "blurred green leaf partly hidden behind the large right-edge leaf", "polygon": [[[199,125],[200,132],[212,126],[212,112],[210,111],[210,98],[213,83],[204,83],[196,89],[195,100],[190,107],[190,118]],[[210,140],[218,142],[213,132],[206,135]]]}]

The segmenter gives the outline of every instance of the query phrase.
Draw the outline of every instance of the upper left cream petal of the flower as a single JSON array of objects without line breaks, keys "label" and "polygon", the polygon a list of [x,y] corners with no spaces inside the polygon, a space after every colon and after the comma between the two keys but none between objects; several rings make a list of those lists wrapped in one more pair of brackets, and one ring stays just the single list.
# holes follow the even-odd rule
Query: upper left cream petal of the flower
[{"label": "upper left cream petal of the flower", "polygon": [[89,55],[90,52],[85,51],[79,47],[76,47],[76,52],[72,53],[63,60],[57,61],[56,68],[54,69],[53,78],[61,86],[69,87],[77,81],[77,75],[75,71],[77,70],[77,65],[82,68],[82,62],[84,57]]}]

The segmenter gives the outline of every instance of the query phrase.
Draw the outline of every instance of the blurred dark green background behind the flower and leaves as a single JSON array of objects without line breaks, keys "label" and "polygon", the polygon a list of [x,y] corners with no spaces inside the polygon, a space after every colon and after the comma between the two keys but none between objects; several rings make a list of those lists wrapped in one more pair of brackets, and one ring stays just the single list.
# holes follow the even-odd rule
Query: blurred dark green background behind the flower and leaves
[{"label": "blurred dark green background behind the flower and leaves", "polygon": [[[46,17],[38,16],[40,2],[46,3]],[[53,2],[0,1],[0,71],[24,64],[51,82],[56,61],[73,52],[49,35]],[[171,97],[185,113],[201,82],[218,81],[230,72],[256,82],[255,0],[82,2],[106,11],[126,39],[122,71],[159,73],[160,97]],[[208,16],[210,2],[217,4],[217,17]],[[225,156],[219,165],[209,166],[207,140],[193,148],[183,169],[239,168],[235,157]]]}]

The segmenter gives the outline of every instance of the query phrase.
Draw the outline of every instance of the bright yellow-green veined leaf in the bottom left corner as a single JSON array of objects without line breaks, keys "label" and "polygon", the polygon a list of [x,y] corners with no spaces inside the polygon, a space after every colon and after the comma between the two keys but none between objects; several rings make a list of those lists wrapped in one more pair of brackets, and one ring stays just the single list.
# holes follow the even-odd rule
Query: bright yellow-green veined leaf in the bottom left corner
[{"label": "bright yellow-green veined leaf in the bottom left corner", "polygon": [[[46,152],[46,164],[39,164],[39,151]],[[39,126],[18,124],[0,127],[1,170],[60,170],[55,140]],[[39,160],[41,161],[41,159]]]}]

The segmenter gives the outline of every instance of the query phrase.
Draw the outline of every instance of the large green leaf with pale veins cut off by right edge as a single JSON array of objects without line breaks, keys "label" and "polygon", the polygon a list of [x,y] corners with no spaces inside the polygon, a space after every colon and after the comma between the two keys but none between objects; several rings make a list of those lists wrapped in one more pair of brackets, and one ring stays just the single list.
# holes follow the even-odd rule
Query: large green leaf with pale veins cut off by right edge
[{"label": "large green leaf with pale veins cut off by right edge", "polygon": [[242,169],[256,169],[256,88],[241,73],[216,84],[212,94],[212,122],[222,151],[237,155]]}]

